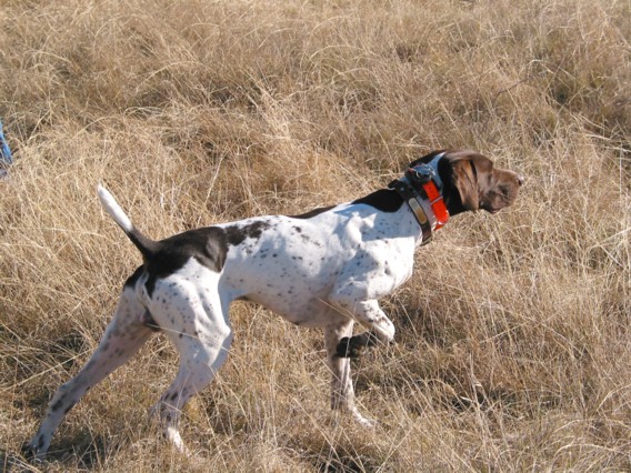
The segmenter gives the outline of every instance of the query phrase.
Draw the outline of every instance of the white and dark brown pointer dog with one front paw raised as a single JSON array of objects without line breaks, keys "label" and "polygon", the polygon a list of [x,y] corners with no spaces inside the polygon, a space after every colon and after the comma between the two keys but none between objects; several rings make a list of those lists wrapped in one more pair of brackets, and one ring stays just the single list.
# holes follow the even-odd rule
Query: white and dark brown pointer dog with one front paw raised
[{"label": "white and dark brown pointer dog with one front paw raised", "polygon": [[[221,368],[232,341],[230,303],[251,301],[294,324],[320,328],[332,374],[331,407],[371,426],[355,406],[350,359],[393,342],[378,300],[412,274],[414,250],[465,211],[511,205],[523,178],[473,151],[434,151],[387,189],[294,217],[270,215],[189,230],[161,241],[142,234],[102,187],[104,210],[142,254],[99,346],[52,397],[26,449],[42,459],[53,432],[81,396],[162,331],[180,354],[176,380],[153,412],[167,437],[187,401]],[[352,334],[358,322],[367,330]]]}]

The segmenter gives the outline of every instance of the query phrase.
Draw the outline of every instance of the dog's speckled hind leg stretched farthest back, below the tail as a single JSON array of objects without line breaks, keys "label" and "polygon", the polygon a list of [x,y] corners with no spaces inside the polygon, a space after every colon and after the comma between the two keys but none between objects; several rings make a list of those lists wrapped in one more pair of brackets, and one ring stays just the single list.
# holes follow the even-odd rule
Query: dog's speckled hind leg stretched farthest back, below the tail
[{"label": "dog's speckled hind leg stretched farthest back, below the tail", "polygon": [[68,411],[90,388],[124,364],[151,336],[152,329],[147,325],[144,314],[146,309],[133,289],[126,286],[99,346],[81,371],[54,393],[38,432],[24,445],[29,454],[42,459]]}]

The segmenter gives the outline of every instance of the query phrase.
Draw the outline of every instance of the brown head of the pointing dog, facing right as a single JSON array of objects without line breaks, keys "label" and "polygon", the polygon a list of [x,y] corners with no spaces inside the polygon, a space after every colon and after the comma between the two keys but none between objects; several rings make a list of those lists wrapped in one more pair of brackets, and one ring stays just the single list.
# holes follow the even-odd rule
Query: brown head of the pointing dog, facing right
[{"label": "brown head of the pointing dog, facing right", "polygon": [[[428,154],[414,163],[429,162],[437,154]],[[497,213],[515,201],[523,184],[523,178],[518,173],[494,168],[489,158],[469,150],[444,152],[438,162],[438,172],[451,215],[479,209]]]}]

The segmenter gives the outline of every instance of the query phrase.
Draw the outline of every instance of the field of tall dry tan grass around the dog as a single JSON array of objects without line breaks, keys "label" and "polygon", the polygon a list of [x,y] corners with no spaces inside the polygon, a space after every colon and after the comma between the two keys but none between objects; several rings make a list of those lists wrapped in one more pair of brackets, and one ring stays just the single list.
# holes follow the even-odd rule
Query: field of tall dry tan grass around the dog
[{"label": "field of tall dry tan grass around the dog", "polygon": [[147,421],[162,336],[94,389],[48,470],[631,470],[631,7],[609,0],[0,2],[0,462],[98,343],[148,234],[360,197],[441,147],[528,177],[383,301],[355,364],[367,432],[328,411],[319,332],[236,305],[178,456]]}]

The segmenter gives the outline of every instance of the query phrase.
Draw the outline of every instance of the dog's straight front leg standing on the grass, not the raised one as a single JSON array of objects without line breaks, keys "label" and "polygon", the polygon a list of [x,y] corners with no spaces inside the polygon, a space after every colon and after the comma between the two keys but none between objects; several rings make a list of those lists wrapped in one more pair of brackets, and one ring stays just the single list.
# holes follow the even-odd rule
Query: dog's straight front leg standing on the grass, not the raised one
[{"label": "dog's straight front leg standing on the grass, not the raised one", "polygon": [[345,410],[360,424],[373,426],[374,422],[361,415],[354,403],[350,359],[340,356],[338,353],[340,341],[350,338],[352,332],[353,320],[351,319],[324,328],[324,344],[331,369],[331,409]]}]

